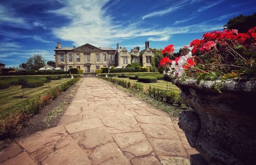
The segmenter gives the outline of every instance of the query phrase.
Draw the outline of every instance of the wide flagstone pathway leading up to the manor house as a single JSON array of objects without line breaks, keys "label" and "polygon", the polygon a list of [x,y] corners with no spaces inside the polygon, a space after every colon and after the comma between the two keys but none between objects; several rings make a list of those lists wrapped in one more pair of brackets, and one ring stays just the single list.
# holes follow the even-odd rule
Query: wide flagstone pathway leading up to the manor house
[{"label": "wide flagstone pathway leading up to the manor house", "polygon": [[57,127],[0,151],[1,165],[190,165],[177,119],[97,78],[84,78]]}]

